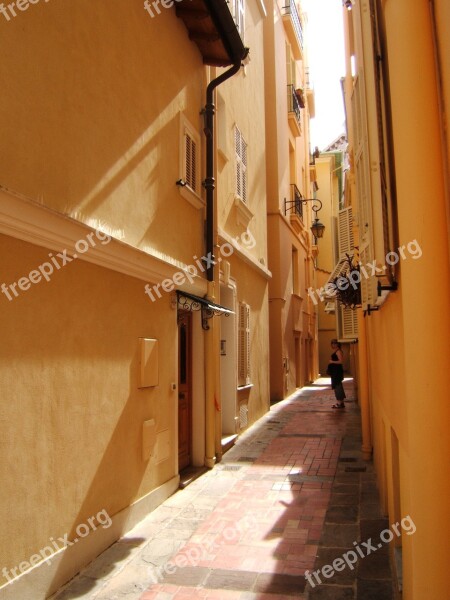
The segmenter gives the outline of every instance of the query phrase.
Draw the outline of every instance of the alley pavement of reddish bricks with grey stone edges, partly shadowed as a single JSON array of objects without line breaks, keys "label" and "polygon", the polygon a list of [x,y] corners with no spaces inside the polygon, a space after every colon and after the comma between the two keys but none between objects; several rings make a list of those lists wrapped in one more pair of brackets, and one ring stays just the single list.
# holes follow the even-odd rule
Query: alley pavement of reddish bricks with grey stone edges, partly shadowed
[{"label": "alley pavement of reddish bricks with grey stone edges, partly shadowed", "polygon": [[345,410],[326,380],[273,406],[54,600],[393,600],[388,545],[362,544],[388,523],[345,387]]}]

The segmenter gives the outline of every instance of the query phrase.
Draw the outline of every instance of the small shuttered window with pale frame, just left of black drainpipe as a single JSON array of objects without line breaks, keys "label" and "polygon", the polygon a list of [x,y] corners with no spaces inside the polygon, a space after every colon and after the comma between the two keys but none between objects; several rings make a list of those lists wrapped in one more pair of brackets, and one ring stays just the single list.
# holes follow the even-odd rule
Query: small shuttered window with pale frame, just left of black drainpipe
[{"label": "small shuttered window with pale frame, just left of black drainpipe", "polygon": [[180,177],[185,185],[180,193],[196,208],[203,206],[200,197],[200,136],[189,121],[181,115]]}]

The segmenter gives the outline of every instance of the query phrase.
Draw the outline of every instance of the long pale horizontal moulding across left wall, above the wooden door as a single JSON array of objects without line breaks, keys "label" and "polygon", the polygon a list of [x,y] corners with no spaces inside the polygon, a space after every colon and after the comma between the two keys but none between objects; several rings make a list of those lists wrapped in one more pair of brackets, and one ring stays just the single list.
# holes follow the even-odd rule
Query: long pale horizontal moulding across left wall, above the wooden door
[{"label": "long pale horizontal moulding across left wall, above the wooden door", "polygon": [[[99,226],[98,230],[110,234],[107,228]],[[67,250],[70,256],[77,241],[86,239],[93,231],[94,227],[0,186],[0,233],[50,250]],[[172,257],[162,258],[156,253],[151,254],[151,250],[140,250],[114,237],[108,244],[96,244],[79,258],[153,283],[172,279],[175,273],[183,272],[186,268]],[[179,289],[197,295],[206,294],[206,280],[198,275],[189,277],[189,281]]]}]

